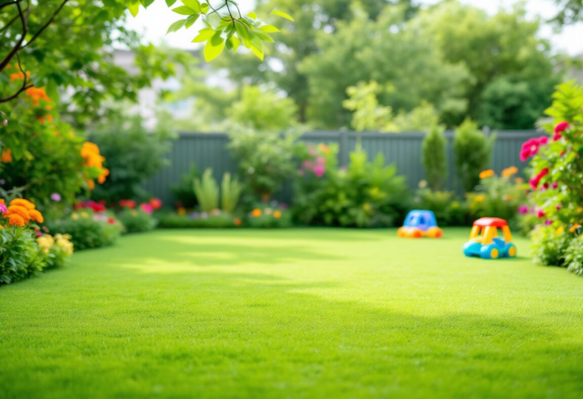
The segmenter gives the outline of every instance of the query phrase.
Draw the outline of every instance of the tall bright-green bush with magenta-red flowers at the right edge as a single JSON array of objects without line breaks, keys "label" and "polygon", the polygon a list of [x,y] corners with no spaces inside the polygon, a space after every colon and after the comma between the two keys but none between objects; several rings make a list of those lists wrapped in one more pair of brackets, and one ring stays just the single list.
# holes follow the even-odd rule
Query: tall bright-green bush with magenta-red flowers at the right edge
[{"label": "tall bright-green bush with magenta-red flowers at the right edge", "polygon": [[567,265],[568,258],[577,271],[574,251],[580,243],[573,227],[583,220],[583,87],[573,82],[557,86],[546,114],[554,120],[545,126],[548,134],[525,142],[521,150],[522,159],[531,159],[529,185],[536,215],[547,225],[533,234],[535,251],[552,253],[535,260]]}]

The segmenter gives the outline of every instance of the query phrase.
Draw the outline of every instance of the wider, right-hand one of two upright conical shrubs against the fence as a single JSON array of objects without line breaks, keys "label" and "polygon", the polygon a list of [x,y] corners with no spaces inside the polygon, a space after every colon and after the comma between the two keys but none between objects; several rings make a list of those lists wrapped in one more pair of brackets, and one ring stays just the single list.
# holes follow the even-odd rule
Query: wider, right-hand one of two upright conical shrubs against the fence
[{"label": "wider, right-hand one of two upright conical shrubs against the fence", "polygon": [[463,191],[472,191],[479,183],[480,170],[490,164],[496,135],[486,138],[477,124],[466,119],[454,135],[455,166]]}]

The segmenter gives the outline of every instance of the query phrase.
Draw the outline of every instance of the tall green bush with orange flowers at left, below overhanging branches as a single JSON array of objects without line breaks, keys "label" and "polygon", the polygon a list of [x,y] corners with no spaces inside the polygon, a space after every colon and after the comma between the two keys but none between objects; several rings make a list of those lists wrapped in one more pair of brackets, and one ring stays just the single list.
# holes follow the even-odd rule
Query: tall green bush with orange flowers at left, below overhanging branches
[{"label": "tall green bush with orange flowers at left, below overhanging branches", "polygon": [[[22,77],[15,76],[15,79]],[[43,88],[27,89],[24,96],[0,104],[0,173],[5,187],[20,192],[37,205],[58,192],[62,201],[100,183],[107,176],[99,148],[72,132],[60,120]]]}]

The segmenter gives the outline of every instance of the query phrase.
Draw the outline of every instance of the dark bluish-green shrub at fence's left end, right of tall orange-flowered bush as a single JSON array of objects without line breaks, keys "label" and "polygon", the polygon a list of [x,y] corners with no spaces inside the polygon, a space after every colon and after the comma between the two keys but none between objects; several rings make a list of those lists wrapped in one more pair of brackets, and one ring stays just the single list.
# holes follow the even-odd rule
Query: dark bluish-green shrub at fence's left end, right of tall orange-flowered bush
[{"label": "dark bluish-green shrub at fence's left end, right of tall orange-flowered bush", "polygon": [[118,114],[97,126],[89,137],[99,145],[111,171],[92,197],[110,203],[146,196],[143,183],[166,163],[173,135],[164,129],[147,131],[137,115],[128,119]]}]

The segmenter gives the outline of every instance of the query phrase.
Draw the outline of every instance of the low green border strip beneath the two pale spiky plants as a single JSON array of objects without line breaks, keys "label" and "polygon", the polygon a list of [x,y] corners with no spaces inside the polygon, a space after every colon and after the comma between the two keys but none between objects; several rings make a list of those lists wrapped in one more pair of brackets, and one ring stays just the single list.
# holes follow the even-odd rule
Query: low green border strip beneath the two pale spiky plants
[{"label": "low green border strip beneath the two pale spiky plants", "polygon": [[215,209],[212,212],[190,212],[184,215],[167,213],[160,218],[160,227],[166,229],[227,228],[242,225],[241,218]]}]

